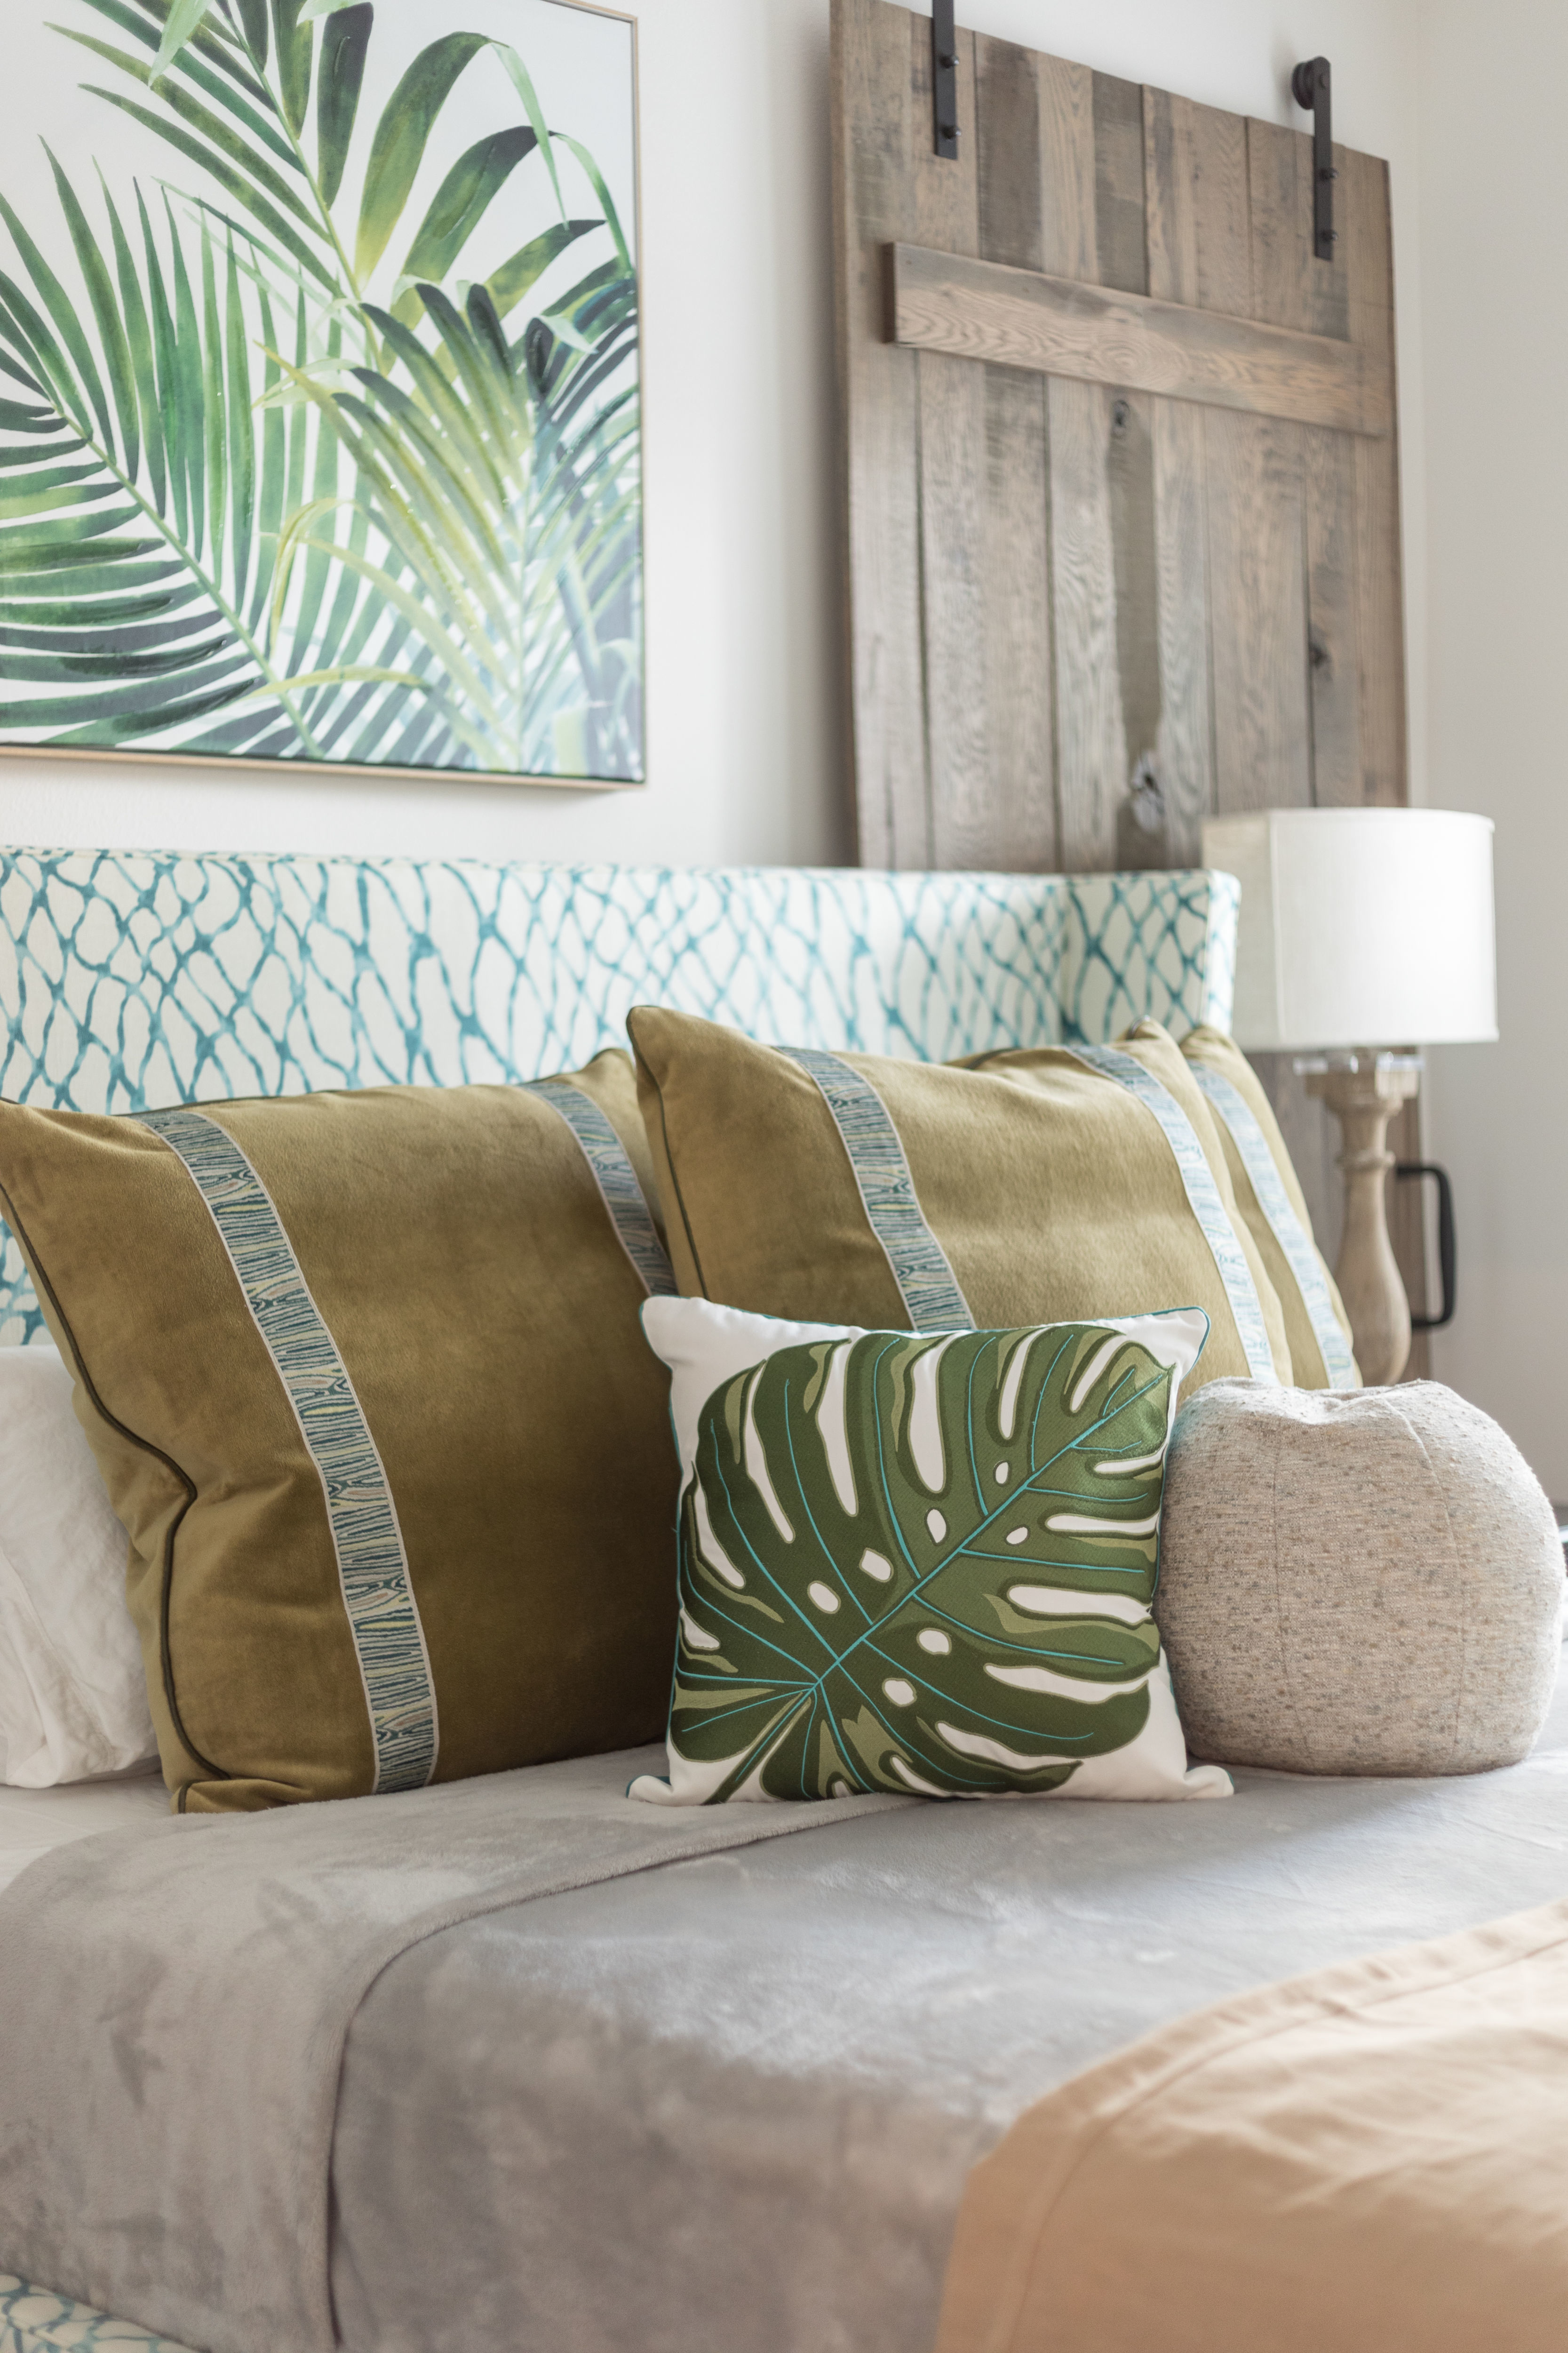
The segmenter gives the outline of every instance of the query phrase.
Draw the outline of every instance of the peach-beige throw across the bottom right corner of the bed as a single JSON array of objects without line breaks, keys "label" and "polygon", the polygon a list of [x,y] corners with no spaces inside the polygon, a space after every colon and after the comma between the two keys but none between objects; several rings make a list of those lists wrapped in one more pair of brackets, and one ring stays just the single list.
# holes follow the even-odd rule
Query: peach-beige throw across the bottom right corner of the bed
[{"label": "peach-beige throw across the bottom right corner of the bed", "polygon": [[1559,2353],[1566,2115],[1568,1901],[1267,1986],[976,2165],[938,2353]]}]

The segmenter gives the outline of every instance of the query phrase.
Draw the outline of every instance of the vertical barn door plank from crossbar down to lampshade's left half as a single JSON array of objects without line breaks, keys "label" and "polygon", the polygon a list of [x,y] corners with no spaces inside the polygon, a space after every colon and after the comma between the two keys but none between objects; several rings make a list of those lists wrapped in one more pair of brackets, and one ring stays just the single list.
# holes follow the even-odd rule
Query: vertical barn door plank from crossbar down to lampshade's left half
[{"label": "vertical barn door plank from crossbar down to lampshade's left half", "polygon": [[1302,438],[1267,416],[1204,416],[1220,812],[1312,800]]}]

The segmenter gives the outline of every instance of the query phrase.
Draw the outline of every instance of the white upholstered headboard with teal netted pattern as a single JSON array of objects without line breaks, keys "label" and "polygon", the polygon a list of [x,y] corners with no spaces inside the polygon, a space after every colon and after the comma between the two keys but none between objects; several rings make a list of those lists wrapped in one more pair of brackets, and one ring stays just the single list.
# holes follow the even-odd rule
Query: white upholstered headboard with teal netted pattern
[{"label": "white upholstered headboard with teal netted pattern", "polygon": [[[165,1111],[313,1087],[524,1082],[632,1005],[769,1045],[947,1061],[1229,1026],[1213,873],[658,871],[155,852],[0,856],[0,1092]],[[0,1344],[38,1306],[0,1257]]]}]

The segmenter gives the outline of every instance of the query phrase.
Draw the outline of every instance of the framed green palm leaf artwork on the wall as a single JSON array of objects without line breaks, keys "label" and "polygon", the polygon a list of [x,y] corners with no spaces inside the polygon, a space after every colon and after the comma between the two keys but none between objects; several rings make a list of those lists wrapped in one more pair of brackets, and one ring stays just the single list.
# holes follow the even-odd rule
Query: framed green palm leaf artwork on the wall
[{"label": "framed green palm leaf artwork on the wall", "polygon": [[7,33],[0,748],[642,781],[632,19]]}]

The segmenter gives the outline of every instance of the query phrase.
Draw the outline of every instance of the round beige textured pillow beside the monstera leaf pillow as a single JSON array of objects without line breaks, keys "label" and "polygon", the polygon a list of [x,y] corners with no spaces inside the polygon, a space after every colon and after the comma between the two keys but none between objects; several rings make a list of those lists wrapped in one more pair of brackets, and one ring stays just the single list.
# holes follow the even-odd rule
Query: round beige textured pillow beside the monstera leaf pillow
[{"label": "round beige textured pillow beside the monstera leaf pillow", "polygon": [[1439,1381],[1211,1381],[1180,1409],[1154,1617],[1192,1755],[1516,1765],[1561,1614],[1556,1513],[1514,1440]]}]

